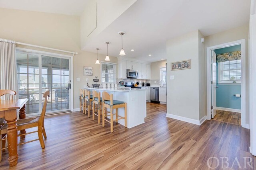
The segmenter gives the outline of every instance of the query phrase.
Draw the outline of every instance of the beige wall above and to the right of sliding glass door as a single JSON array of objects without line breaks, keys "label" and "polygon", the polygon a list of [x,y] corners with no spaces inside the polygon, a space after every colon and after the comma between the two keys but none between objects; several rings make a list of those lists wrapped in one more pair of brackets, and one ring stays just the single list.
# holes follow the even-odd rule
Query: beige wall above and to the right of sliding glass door
[{"label": "beige wall above and to the right of sliding glass door", "polygon": [[[79,89],[86,85],[86,78],[89,78],[89,84],[92,86],[94,76],[100,77],[100,65],[95,64],[97,54],[80,50],[80,18],[78,16],[0,8],[0,23],[2,23],[0,26],[1,38],[78,52],[78,55],[73,58],[74,108],[78,108]],[[21,47],[20,45],[17,46]],[[31,47],[28,48],[32,49]],[[46,51],[44,49],[38,50]],[[58,53],[56,51],[51,52]],[[99,59],[102,61],[105,56],[99,55]],[[110,62],[118,63],[118,60],[116,57],[110,57]],[[83,66],[92,66],[93,76],[84,76]],[[76,81],[76,78],[80,78],[80,81]]]}]

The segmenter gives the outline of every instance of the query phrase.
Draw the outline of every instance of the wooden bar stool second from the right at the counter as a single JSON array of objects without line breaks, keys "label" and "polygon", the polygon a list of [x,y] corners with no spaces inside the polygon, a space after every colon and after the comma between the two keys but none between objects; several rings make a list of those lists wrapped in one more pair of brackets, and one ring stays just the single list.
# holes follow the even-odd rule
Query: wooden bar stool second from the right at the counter
[{"label": "wooden bar stool second from the right at the counter", "polygon": [[[95,107],[97,106],[97,107]],[[98,114],[96,114],[98,113]],[[95,119],[95,115],[98,116],[98,124],[100,124],[100,115],[102,115],[102,98],[100,92],[93,90],[92,92],[92,120]]]}]

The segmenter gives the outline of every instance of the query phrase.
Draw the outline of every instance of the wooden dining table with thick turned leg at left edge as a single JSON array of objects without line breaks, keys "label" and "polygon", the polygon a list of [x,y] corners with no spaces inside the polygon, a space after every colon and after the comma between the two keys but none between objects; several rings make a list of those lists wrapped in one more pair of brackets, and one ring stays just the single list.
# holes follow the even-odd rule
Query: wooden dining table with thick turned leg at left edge
[{"label": "wooden dining table with thick turned leg at left edge", "polygon": [[[19,119],[26,118],[26,102],[25,99],[14,100],[0,100],[0,117],[4,117],[7,121],[7,141],[9,158],[8,162],[10,167],[15,166],[18,163],[18,128],[17,128],[17,111],[19,111]],[[26,130],[20,131],[20,134],[26,133]],[[24,138],[22,135],[21,138]]]}]

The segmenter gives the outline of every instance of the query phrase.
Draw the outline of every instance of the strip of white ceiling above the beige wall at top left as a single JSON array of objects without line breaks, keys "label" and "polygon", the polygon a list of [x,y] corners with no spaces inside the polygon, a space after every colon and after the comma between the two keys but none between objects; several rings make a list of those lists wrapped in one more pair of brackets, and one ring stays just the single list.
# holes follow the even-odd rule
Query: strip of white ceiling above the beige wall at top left
[{"label": "strip of white ceiling above the beige wall at top left", "polygon": [[0,8],[80,16],[87,0],[0,0]]}]

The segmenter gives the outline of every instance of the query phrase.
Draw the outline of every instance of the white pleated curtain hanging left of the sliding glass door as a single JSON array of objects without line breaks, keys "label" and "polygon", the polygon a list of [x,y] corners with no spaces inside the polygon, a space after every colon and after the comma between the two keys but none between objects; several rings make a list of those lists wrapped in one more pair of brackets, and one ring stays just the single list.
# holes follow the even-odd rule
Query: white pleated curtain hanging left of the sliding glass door
[{"label": "white pleated curtain hanging left of the sliding glass door", "polygon": [[[0,39],[0,70],[0,89],[18,92],[15,41]],[[7,99],[6,96],[2,96],[2,99]]]}]

